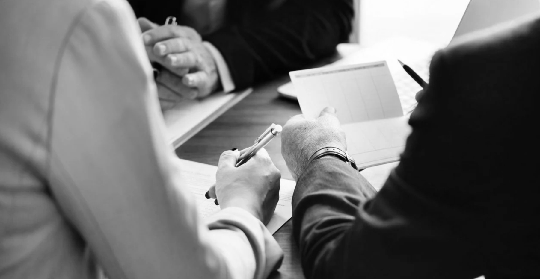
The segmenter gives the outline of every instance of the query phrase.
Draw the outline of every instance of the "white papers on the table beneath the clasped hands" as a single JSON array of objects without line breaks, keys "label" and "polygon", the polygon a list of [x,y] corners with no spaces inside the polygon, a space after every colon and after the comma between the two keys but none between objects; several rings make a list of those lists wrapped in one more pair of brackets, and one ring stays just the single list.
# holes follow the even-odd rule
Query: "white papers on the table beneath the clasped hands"
[{"label": "white papers on the table beneath the clasped hands", "polygon": [[168,140],[177,148],[253,90],[214,93],[200,100],[185,100],[163,112]]}]

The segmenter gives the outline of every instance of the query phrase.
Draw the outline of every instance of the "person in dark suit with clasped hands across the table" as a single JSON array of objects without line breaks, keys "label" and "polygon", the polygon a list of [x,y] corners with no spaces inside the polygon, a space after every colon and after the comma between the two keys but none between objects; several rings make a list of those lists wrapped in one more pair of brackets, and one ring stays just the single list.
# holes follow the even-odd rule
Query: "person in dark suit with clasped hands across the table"
[{"label": "person in dark suit with clasped hands across the table", "polygon": [[[348,39],[354,16],[352,0],[129,2],[145,17],[146,50],[164,67],[158,93],[171,103],[245,89],[328,56]],[[168,16],[179,25],[159,26]]]}]

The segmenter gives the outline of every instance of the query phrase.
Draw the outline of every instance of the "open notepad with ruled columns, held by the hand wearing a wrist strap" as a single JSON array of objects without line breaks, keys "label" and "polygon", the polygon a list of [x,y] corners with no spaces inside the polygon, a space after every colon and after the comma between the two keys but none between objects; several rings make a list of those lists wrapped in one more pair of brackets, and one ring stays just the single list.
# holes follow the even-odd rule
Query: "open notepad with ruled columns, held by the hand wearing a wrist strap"
[{"label": "open notepad with ruled columns, held by the hand wearing a wrist strap", "polygon": [[410,127],[385,61],[290,72],[302,113],[338,112],[359,168],[399,160]]}]

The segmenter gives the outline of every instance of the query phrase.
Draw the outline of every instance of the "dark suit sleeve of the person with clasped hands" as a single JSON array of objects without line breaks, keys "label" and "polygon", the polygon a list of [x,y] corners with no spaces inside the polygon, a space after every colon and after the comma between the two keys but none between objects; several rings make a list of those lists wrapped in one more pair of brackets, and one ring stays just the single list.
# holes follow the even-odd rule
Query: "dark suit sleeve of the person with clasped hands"
[{"label": "dark suit sleeve of the person with clasped hands", "polygon": [[204,39],[224,56],[241,89],[330,55],[348,38],[353,15],[350,0],[289,0]]}]

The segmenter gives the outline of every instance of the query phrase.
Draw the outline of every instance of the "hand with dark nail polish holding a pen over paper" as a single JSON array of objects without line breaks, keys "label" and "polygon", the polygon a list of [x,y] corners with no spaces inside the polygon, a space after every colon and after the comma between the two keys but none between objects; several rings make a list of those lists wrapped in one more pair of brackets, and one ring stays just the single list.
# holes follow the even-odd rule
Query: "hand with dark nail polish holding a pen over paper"
[{"label": "hand with dark nail polish holding a pen over paper", "polygon": [[217,198],[221,209],[240,207],[267,224],[278,204],[281,173],[264,148],[235,167],[239,157],[238,150],[221,154],[215,187],[208,190],[208,196]]}]

